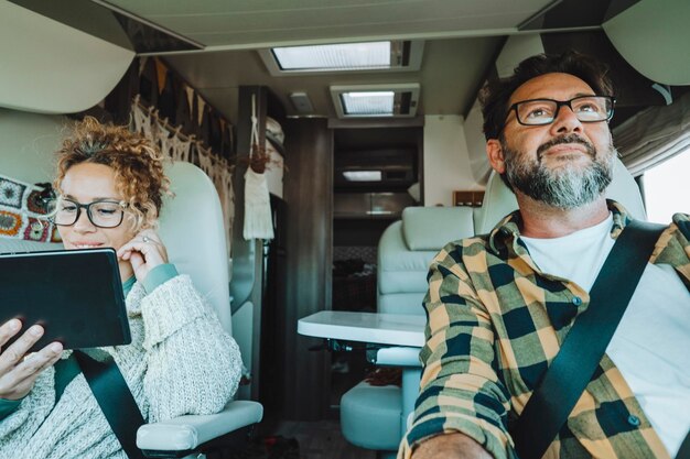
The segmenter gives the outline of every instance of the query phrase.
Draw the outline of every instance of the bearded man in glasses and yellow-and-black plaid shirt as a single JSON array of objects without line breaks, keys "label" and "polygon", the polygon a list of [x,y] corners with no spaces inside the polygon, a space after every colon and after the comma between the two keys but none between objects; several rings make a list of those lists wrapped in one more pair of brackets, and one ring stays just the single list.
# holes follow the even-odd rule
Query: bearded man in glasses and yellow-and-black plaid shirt
[{"label": "bearded man in glasses and yellow-and-black plaid shirt", "polygon": [[[612,94],[605,70],[573,52],[526,59],[485,89],[488,160],[519,210],[431,264],[424,369],[399,458],[517,457],[509,429],[629,219],[604,198]],[[545,457],[676,455],[690,427],[689,239],[676,215]]]}]

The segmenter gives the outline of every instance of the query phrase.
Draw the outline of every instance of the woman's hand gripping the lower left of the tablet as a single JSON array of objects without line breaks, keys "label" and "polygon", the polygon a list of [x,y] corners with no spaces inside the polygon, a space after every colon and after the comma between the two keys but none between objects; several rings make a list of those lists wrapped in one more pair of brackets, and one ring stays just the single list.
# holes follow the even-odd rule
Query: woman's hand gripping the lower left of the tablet
[{"label": "woman's hand gripping the lower left of the tablet", "polygon": [[17,341],[7,349],[6,342],[19,334],[22,323],[12,319],[0,327],[0,398],[19,400],[31,392],[36,378],[46,368],[55,363],[62,356],[63,346],[51,342],[24,359],[31,347],[43,336],[43,327],[30,327]]}]

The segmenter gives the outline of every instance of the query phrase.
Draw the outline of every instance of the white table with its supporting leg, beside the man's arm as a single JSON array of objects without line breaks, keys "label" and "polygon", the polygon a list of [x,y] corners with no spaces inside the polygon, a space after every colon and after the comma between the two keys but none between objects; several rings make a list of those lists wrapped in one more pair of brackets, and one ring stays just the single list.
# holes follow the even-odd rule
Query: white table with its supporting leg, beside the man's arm
[{"label": "white table with its supporting leg, beside the man's arm", "polygon": [[402,367],[401,435],[407,430],[408,415],[414,409],[421,365],[419,351],[424,346],[424,316],[401,314],[322,310],[298,321],[298,334],[345,341],[385,346],[376,363]]}]

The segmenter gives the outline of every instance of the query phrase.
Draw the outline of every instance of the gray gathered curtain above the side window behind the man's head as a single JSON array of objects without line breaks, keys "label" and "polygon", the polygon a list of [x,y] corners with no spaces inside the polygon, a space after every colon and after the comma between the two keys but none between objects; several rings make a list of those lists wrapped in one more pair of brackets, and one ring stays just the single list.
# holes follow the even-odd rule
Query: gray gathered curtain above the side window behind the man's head
[{"label": "gray gathered curtain above the side window behind the man's head", "polygon": [[670,160],[690,147],[690,92],[635,114],[613,130],[613,138],[633,176]]}]

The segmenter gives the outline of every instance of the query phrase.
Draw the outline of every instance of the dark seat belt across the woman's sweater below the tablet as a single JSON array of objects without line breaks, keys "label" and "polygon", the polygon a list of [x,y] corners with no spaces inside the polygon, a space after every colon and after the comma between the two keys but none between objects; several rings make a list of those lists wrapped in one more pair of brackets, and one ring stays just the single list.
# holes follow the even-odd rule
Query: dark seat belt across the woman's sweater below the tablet
[{"label": "dark seat belt across the woman's sweater below the tablet", "polygon": [[137,430],[144,424],[139,406],[110,354],[96,360],[84,351],[73,352],[100,411],[129,459],[143,459],[137,448]]}]

